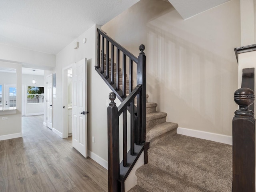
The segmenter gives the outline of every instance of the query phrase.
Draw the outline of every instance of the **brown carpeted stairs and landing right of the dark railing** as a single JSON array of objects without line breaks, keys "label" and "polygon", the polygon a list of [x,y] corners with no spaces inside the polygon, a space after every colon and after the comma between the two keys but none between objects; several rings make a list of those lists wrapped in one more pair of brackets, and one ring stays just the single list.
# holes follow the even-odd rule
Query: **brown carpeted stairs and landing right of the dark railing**
[{"label": "brown carpeted stairs and landing right of the dark railing", "polygon": [[231,192],[232,146],[177,134],[156,106],[146,104],[148,164],[129,192]]}]

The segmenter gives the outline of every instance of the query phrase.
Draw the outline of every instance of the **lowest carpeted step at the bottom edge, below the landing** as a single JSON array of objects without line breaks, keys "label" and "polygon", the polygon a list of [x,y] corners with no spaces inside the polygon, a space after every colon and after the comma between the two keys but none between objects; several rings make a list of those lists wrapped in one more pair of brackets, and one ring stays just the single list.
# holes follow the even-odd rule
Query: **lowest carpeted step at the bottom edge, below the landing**
[{"label": "lowest carpeted step at the bottom edge, below the landing", "polygon": [[141,188],[154,192],[208,192],[193,183],[178,178],[164,170],[146,164],[136,170],[137,178],[143,180],[138,182]]}]

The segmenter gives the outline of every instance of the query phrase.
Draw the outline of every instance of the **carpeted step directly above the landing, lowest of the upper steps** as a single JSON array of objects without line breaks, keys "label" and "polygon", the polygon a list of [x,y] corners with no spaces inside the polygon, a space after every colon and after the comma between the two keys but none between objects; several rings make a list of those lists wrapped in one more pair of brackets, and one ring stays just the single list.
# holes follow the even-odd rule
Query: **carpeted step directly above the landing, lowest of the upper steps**
[{"label": "carpeted step directly above the landing, lowest of the upper steps", "polygon": [[164,122],[158,125],[155,125],[151,128],[146,129],[146,142],[150,142],[152,139],[165,134],[171,130],[178,128],[177,123]]}]

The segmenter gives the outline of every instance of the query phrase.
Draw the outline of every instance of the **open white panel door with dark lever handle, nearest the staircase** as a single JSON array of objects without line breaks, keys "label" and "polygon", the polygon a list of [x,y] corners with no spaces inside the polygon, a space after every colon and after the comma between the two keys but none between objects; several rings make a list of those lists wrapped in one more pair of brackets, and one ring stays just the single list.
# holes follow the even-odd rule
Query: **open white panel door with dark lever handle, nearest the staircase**
[{"label": "open white panel door with dark lever handle, nearest the staircase", "polygon": [[72,143],[84,157],[87,157],[87,82],[86,58],[73,64],[73,102],[72,102]]}]

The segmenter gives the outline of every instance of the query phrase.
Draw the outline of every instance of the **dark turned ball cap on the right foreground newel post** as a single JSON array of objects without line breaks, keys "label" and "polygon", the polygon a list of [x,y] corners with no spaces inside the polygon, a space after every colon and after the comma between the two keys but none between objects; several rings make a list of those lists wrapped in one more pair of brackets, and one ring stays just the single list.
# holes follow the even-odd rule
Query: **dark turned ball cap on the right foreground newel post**
[{"label": "dark turned ball cap on the right foreground newel post", "polygon": [[234,92],[234,101],[239,105],[239,109],[235,111],[235,117],[254,118],[254,112],[248,107],[254,103],[254,92],[249,88],[240,88]]}]

